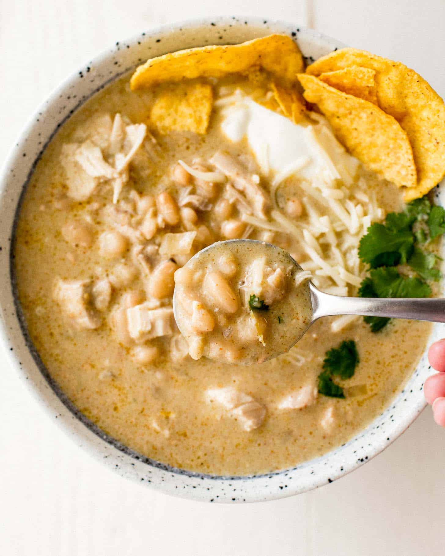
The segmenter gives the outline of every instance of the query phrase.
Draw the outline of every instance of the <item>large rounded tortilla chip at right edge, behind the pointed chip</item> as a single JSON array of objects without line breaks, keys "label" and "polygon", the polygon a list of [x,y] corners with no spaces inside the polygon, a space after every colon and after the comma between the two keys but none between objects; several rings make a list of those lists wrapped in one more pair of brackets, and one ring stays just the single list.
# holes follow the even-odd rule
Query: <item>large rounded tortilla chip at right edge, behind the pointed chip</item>
[{"label": "large rounded tortilla chip at right edge, behind the pointed chip", "polygon": [[354,48],[328,54],[306,68],[310,75],[361,66],[375,71],[378,106],[406,131],[413,149],[418,183],[405,200],[422,197],[445,175],[445,105],[439,95],[400,62]]}]

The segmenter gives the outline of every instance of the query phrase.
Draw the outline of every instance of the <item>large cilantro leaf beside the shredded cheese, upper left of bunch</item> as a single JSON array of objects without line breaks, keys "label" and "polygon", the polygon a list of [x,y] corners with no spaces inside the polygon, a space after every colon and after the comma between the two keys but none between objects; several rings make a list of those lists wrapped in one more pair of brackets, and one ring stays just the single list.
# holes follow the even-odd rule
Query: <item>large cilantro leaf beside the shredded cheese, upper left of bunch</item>
[{"label": "large cilantro leaf beside the shredded cheese, upper left of bunch", "polygon": [[[413,252],[413,246],[414,236],[411,230],[392,231],[383,224],[373,224],[368,228],[367,235],[360,240],[358,254],[372,268],[387,265],[389,261],[393,265],[399,262],[405,264]],[[394,263],[397,259],[397,263]]]}]

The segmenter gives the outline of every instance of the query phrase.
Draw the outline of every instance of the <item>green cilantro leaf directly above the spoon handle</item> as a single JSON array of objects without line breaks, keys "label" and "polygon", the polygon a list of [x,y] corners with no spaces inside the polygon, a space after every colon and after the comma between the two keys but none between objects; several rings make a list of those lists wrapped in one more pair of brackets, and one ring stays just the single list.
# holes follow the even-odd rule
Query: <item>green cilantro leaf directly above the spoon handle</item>
[{"label": "green cilantro leaf directly above the spoon handle", "polygon": [[401,276],[397,269],[380,268],[370,271],[372,285],[377,297],[429,297],[431,287],[418,278]]}]

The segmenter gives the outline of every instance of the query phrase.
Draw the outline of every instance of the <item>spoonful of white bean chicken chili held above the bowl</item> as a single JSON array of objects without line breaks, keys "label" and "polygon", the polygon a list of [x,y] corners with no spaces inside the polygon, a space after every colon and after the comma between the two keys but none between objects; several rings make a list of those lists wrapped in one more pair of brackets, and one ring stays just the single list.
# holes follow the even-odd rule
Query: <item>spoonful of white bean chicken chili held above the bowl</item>
[{"label": "spoonful of white bean chicken chili held above the bowl", "polygon": [[192,359],[251,365],[304,334],[312,307],[310,272],[259,241],[220,242],[175,272],[175,317]]}]

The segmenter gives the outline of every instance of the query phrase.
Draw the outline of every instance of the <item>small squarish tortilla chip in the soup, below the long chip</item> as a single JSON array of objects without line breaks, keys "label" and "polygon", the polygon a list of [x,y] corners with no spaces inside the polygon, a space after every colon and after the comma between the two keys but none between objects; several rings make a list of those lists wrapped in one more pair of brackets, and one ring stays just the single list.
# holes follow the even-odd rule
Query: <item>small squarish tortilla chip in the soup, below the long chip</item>
[{"label": "small squarish tortilla chip in the soup, below the long chip", "polygon": [[213,92],[204,83],[171,84],[151,108],[150,121],[164,135],[170,131],[204,134],[210,121]]}]

